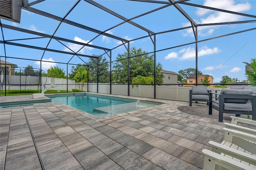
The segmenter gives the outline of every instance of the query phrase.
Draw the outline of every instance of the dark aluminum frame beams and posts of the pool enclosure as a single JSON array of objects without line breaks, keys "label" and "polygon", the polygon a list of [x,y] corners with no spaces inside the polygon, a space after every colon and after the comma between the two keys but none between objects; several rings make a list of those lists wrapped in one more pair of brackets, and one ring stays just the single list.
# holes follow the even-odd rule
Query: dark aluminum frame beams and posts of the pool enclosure
[{"label": "dark aluminum frame beams and posts of the pool enclosure", "polygon": [[[16,0],[18,1],[18,0]],[[19,0],[19,1],[22,1],[22,0]],[[168,1],[158,1],[158,0],[128,0],[128,1],[138,1],[138,2],[144,2],[144,3],[153,3],[153,4],[162,4],[163,6],[162,7],[158,7],[154,10],[151,10],[151,11],[148,11],[148,12],[145,12],[144,14],[140,14],[136,17],[133,17],[133,18],[125,18],[124,16],[120,15],[120,14],[117,14],[116,12],[106,8],[105,6],[102,6],[100,4],[98,4],[97,2],[93,1],[93,0],[77,0],[76,3],[70,8],[70,10],[68,10],[68,12],[64,15],[64,17],[59,17],[59,16],[56,16],[56,15],[53,15],[53,14],[49,14],[47,12],[44,12],[42,10],[38,10],[36,8],[33,8],[32,6],[35,5],[35,4],[40,4],[40,2],[43,2],[44,0],[35,0],[34,2],[31,2],[29,4],[26,4],[26,6],[22,6],[22,9],[24,10],[27,10],[29,12],[33,12],[33,13],[36,13],[36,14],[39,14],[41,16],[44,16],[44,17],[47,17],[47,18],[51,18],[53,20],[56,20],[56,21],[59,21],[60,23],[58,24],[57,28],[55,29],[54,33],[52,35],[48,35],[48,34],[43,34],[43,33],[39,33],[39,32],[34,32],[34,31],[31,31],[31,30],[27,30],[27,29],[24,29],[24,28],[18,28],[18,27],[15,27],[15,26],[10,26],[10,25],[6,25],[6,24],[2,24],[2,19],[5,19],[5,18],[0,18],[0,27],[1,27],[1,36],[2,36],[2,39],[0,41],[0,43],[4,44],[4,50],[5,51],[5,55],[4,56],[0,56],[0,57],[4,57],[5,58],[5,61],[6,61],[6,58],[15,58],[15,57],[12,57],[12,56],[6,56],[6,48],[5,48],[5,45],[14,45],[14,46],[20,46],[20,47],[26,47],[26,48],[32,48],[32,49],[37,49],[37,50],[43,50],[44,53],[45,51],[52,51],[52,52],[56,52],[56,53],[65,53],[65,54],[70,54],[72,55],[72,57],[69,59],[69,61],[67,63],[64,63],[67,65],[67,70],[68,70],[68,65],[70,65],[70,61],[71,59],[74,57],[74,56],[77,56],[81,59],[81,61],[84,62],[84,60],[82,59],[82,57],[89,57],[89,58],[94,58],[96,59],[96,63],[97,63],[97,93],[98,93],[98,57],[95,57],[95,56],[90,56],[90,55],[84,55],[84,54],[80,54],[78,53],[83,47],[92,47],[92,48],[95,48],[95,49],[101,49],[103,50],[104,52],[100,55],[104,55],[104,54],[107,54],[108,57],[110,58],[110,62],[108,62],[110,64],[110,94],[111,94],[111,85],[112,85],[112,75],[111,75],[111,64],[112,62],[112,50],[113,49],[116,49],[118,47],[120,47],[121,45],[124,45],[127,49],[127,52],[128,52],[128,96],[130,95],[130,58],[131,57],[136,57],[136,56],[130,56],[130,42],[134,41],[134,40],[140,40],[142,38],[150,38],[152,40],[152,44],[154,45],[154,51],[151,51],[150,53],[153,53],[154,54],[154,98],[156,98],[156,52],[158,51],[163,51],[163,50],[166,50],[166,49],[172,49],[172,48],[175,48],[175,47],[181,47],[181,46],[185,46],[185,45],[189,45],[189,44],[195,44],[196,46],[196,79],[198,77],[198,43],[199,42],[203,42],[203,41],[208,41],[208,40],[212,40],[212,39],[216,39],[216,38],[221,38],[221,37],[224,37],[224,36],[230,36],[230,35],[233,35],[233,34],[239,34],[239,33],[242,33],[242,32],[248,32],[248,31],[253,31],[253,30],[256,30],[256,27],[255,28],[251,28],[251,29],[248,29],[248,30],[242,30],[240,32],[233,32],[233,33],[230,33],[230,34],[225,34],[225,35],[222,35],[222,36],[217,36],[217,37],[213,37],[213,38],[209,38],[209,39],[205,39],[205,40],[198,40],[198,27],[200,26],[217,26],[217,25],[228,25],[228,24],[245,24],[245,23],[255,23],[256,22],[256,15],[250,15],[250,14],[244,14],[244,13],[239,13],[239,12],[233,12],[233,11],[228,11],[228,10],[223,10],[223,9],[218,9],[218,8],[212,8],[212,7],[208,7],[208,6],[202,6],[202,5],[198,5],[198,4],[193,4],[193,3],[189,3],[190,0],[168,0]],[[76,23],[74,21],[71,21],[71,20],[67,20],[66,17],[68,16],[68,14],[70,14],[70,12],[72,12],[72,10],[77,6],[79,5],[79,3],[81,1],[84,1],[84,2],[87,2],[89,4],[92,4],[94,6],[96,6],[97,8],[101,9],[101,10],[104,10],[106,12],[108,12],[109,14],[112,14],[113,16],[123,20],[123,22],[115,25],[115,26],[112,26],[111,28],[108,28],[107,30],[97,30],[97,29],[94,29],[94,28],[90,28],[86,25],[82,25],[82,24],[79,24],[79,23]],[[235,15],[239,15],[239,16],[246,16],[246,17],[250,17],[252,18],[252,20],[245,20],[245,21],[238,21],[238,22],[223,22],[223,23],[211,23],[211,24],[197,24],[181,7],[179,4],[183,4],[183,5],[186,5],[186,6],[194,6],[194,7],[198,7],[198,8],[204,8],[204,9],[209,9],[209,10],[214,10],[214,11],[220,11],[220,12],[226,12],[226,13],[229,13],[229,14],[235,14]],[[188,26],[188,27],[183,27],[183,28],[178,28],[178,29],[175,29],[175,30],[166,30],[164,32],[153,32],[152,30],[149,30],[148,28],[145,28],[143,26],[140,26],[139,24],[133,22],[132,20],[136,19],[136,18],[139,18],[141,16],[144,16],[146,14],[150,14],[150,13],[153,13],[158,11],[158,10],[162,10],[164,8],[167,8],[169,6],[174,6],[176,8],[176,10],[178,10],[190,23],[191,23],[191,26]],[[58,28],[60,27],[60,25],[62,23],[66,23],[66,24],[69,24],[71,26],[74,26],[74,27],[78,27],[78,28],[82,28],[84,30],[87,30],[87,31],[90,31],[90,32],[94,32],[96,34],[98,34],[97,36],[95,36],[94,38],[92,38],[89,42],[87,43],[81,43],[81,42],[77,42],[77,41],[74,41],[74,40],[70,40],[70,39],[66,39],[66,38],[61,38],[61,37],[57,37],[57,36],[54,36],[54,34],[56,33],[56,31],[58,30]],[[120,38],[118,36],[114,36],[112,34],[108,34],[106,33],[108,30],[111,30],[112,28],[115,28],[117,26],[120,26],[121,24],[124,24],[124,23],[128,23],[128,24],[131,24],[132,26],[135,26],[141,30],[144,30],[145,32],[148,32],[148,36],[143,36],[143,37],[140,37],[140,38],[136,38],[134,40],[126,40],[124,38]],[[28,33],[28,34],[32,34],[32,35],[36,35],[36,36],[40,36],[39,38],[50,38],[50,40],[48,41],[48,43],[46,44],[45,47],[38,47],[38,46],[32,46],[32,45],[26,45],[26,44],[21,44],[21,43],[13,43],[12,41],[15,41],[15,40],[5,40],[4,39],[4,31],[3,31],[3,28],[6,28],[6,29],[10,29],[10,30],[15,30],[17,32],[24,32],[24,33]],[[156,35],[159,35],[159,34],[165,34],[165,33],[168,33],[168,32],[175,32],[175,31],[179,31],[179,30],[184,30],[184,29],[188,29],[188,28],[192,28],[193,30],[193,33],[194,33],[194,38],[195,38],[195,41],[192,42],[192,43],[186,43],[186,44],[182,44],[182,45],[178,45],[178,46],[173,46],[173,47],[168,47],[168,48],[165,48],[165,49],[159,49],[159,50],[156,50]],[[101,46],[97,46],[97,45],[90,45],[89,43],[92,42],[95,38],[97,38],[98,36],[107,36],[109,38],[113,38],[115,40],[118,40],[118,41],[121,41],[122,44],[121,45],[118,45],[116,47],[113,47],[112,49],[110,48],[106,48],[106,47],[101,47]],[[39,39],[37,38],[37,39]],[[36,38],[26,38],[26,40],[31,40],[31,39],[36,39]],[[21,40],[21,39],[20,39]],[[25,39],[22,39],[22,40],[25,40]],[[62,42],[60,41],[64,41],[64,42],[69,42],[69,43],[74,43],[74,44],[78,44],[78,45],[82,45],[82,48],[79,49],[78,51],[71,51],[72,52],[67,52],[67,51],[60,51],[60,50],[57,50],[57,49],[50,49],[48,48],[48,45],[50,43],[50,41],[52,40],[55,40],[59,43],[61,43],[63,46],[67,47],[66,45],[64,45]],[[40,61],[40,69],[42,69],[42,59],[44,57],[44,53],[41,57],[41,59],[39,60]],[[21,58],[18,58],[17,59],[21,59]],[[32,59],[29,59],[29,60],[32,60]],[[35,61],[38,61],[38,60],[35,60]],[[118,60],[116,60],[118,61]],[[59,62],[56,62],[56,63],[59,63]],[[90,65],[86,65],[87,66],[87,69],[88,67],[90,67]],[[68,77],[68,71],[67,71],[67,77]],[[88,82],[88,81],[87,81]],[[198,85],[198,83],[196,82],[196,85]],[[68,86],[68,78],[67,78],[67,86]],[[6,89],[6,87],[5,87]],[[68,87],[67,87],[67,92],[68,92]],[[6,95],[6,93],[5,93]]]}]

